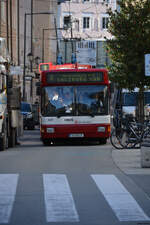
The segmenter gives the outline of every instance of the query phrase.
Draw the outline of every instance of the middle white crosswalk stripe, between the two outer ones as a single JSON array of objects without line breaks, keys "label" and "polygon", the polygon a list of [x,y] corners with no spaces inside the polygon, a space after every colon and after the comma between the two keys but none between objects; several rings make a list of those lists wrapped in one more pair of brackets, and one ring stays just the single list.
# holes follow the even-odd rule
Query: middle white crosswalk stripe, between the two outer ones
[{"label": "middle white crosswalk stripe, between the two outer ones", "polygon": [[79,216],[64,174],[43,174],[47,222],[78,222]]}]

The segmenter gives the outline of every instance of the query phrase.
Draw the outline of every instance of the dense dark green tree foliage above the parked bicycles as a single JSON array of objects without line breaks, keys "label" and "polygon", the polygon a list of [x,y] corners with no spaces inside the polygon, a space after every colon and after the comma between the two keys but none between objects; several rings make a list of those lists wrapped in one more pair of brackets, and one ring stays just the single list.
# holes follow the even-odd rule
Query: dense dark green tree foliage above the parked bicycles
[{"label": "dense dark green tree foliage above the parked bicycles", "polygon": [[121,0],[119,5],[119,11],[108,10],[108,31],[113,36],[106,39],[110,80],[123,88],[141,89],[150,86],[144,59],[150,53],[150,0]]}]

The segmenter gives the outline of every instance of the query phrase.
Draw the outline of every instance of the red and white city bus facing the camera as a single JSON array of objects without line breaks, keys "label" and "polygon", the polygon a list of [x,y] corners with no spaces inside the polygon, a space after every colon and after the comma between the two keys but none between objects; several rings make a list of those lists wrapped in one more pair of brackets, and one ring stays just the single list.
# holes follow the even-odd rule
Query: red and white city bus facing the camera
[{"label": "red and white city bus facing the camera", "polygon": [[106,69],[53,65],[41,72],[41,139],[95,140],[110,136],[110,83]]}]

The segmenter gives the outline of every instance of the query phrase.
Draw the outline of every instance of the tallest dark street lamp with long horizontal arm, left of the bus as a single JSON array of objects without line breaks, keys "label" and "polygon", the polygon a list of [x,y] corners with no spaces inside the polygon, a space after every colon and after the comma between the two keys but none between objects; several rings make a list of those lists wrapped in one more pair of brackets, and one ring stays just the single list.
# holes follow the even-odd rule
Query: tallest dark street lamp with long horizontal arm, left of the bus
[{"label": "tallest dark street lamp with long horizontal arm, left of the bus", "polygon": [[27,16],[32,15],[50,15],[54,14],[53,12],[35,12],[35,13],[25,13],[24,14],[24,67],[23,67],[23,100],[25,101],[25,76],[26,76],[26,19]]}]

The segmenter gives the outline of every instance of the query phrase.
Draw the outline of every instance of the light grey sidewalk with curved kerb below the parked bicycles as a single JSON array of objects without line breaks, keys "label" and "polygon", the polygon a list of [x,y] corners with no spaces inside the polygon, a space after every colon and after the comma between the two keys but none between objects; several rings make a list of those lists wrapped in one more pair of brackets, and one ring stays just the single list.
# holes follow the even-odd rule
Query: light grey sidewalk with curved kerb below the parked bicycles
[{"label": "light grey sidewalk with curved kerb below the parked bicycles", "polygon": [[126,174],[150,175],[150,168],[141,167],[141,150],[116,150],[111,146],[112,158],[115,164]]}]

